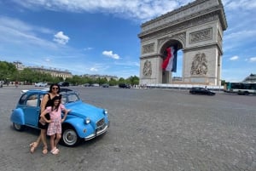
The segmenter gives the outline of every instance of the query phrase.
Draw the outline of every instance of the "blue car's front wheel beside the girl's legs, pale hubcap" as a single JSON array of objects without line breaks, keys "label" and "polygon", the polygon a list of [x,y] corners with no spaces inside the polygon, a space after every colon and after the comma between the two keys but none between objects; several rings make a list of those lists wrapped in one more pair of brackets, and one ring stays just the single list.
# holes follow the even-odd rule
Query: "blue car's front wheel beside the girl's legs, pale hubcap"
[{"label": "blue car's front wheel beside the girl's legs, pale hubcap", "polygon": [[68,126],[62,129],[61,145],[73,147],[78,145],[79,141],[79,135],[73,127]]}]

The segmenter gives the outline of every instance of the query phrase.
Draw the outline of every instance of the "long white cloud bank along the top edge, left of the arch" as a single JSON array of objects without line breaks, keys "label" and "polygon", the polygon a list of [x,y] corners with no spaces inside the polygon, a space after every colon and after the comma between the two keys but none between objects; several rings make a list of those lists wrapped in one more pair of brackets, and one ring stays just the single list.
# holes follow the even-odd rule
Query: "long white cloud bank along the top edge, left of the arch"
[{"label": "long white cloud bank along the top edge, left of the arch", "polygon": [[43,7],[49,10],[67,10],[75,13],[102,12],[145,21],[166,14],[192,1],[194,0],[23,0],[15,1],[15,3],[32,10],[40,10]]}]

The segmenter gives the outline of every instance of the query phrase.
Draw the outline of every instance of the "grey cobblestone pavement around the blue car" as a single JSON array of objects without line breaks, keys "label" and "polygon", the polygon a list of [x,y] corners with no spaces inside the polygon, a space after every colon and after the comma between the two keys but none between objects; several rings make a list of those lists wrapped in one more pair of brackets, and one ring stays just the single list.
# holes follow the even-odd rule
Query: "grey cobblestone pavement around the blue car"
[{"label": "grey cobblestone pavement around the blue car", "polygon": [[72,87],[82,100],[108,109],[109,131],[44,156],[42,146],[29,152],[38,130],[18,132],[9,121],[20,90],[28,88],[0,88],[0,170],[256,170],[256,96]]}]

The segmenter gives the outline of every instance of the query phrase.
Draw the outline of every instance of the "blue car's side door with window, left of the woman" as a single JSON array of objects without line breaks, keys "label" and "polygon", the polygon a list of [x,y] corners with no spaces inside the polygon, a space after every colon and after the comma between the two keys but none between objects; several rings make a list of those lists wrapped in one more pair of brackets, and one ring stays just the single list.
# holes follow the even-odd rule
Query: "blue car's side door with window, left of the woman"
[{"label": "blue car's side door with window, left of the woman", "polygon": [[32,127],[38,127],[38,117],[40,113],[40,94],[29,94],[23,108],[25,123]]}]

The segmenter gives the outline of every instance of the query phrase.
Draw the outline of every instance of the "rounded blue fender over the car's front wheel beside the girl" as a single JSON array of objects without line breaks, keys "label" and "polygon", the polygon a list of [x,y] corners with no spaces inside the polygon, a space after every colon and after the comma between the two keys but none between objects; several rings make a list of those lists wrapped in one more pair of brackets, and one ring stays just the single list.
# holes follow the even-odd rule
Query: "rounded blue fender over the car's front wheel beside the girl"
[{"label": "rounded blue fender over the car's front wheel beside the girl", "polygon": [[90,123],[85,124],[84,122],[84,118],[72,117],[67,118],[64,123],[62,123],[62,126],[65,127],[65,124],[72,125],[79,137],[84,138],[90,134],[95,133],[95,128],[93,128]]}]

